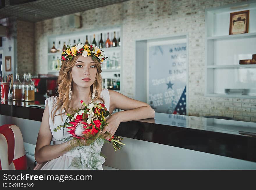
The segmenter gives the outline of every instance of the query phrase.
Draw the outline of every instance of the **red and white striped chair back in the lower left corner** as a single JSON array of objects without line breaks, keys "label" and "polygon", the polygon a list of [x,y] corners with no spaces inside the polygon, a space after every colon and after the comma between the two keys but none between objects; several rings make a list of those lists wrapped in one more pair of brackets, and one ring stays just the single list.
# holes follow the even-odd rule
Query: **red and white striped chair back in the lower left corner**
[{"label": "red and white striped chair back in the lower left corner", "polygon": [[16,125],[0,126],[0,169],[27,169],[24,142]]}]

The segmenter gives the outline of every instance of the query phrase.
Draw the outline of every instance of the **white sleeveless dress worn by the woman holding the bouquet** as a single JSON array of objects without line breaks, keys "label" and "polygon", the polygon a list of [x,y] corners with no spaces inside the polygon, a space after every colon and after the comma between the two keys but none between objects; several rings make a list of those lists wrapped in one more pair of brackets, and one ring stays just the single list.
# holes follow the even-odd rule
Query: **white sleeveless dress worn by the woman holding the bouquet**
[{"label": "white sleeveless dress worn by the woman holding the bouquet", "polygon": [[[103,89],[100,97],[102,97],[105,101],[105,106],[109,110],[109,90]],[[51,96],[46,98],[45,106],[48,104],[49,113],[51,114],[51,110],[53,108],[53,103],[57,101],[57,96]],[[100,101],[103,103],[102,101]],[[56,114],[60,113],[60,109],[56,112]],[[53,112],[52,112],[53,114]],[[54,124],[51,120],[51,116],[49,118],[49,125],[52,133],[52,141],[54,145],[58,145],[63,143],[63,138],[67,138],[71,136],[71,134],[67,133],[70,129],[64,128],[54,132],[53,129],[59,125],[63,125],[67,116],[63,115],[63,121],[61,121],[61,116],[54,117]],[[102,164],[105,162],[105,158],[100,156],[101,148],[104,144],[104,139],[97,139],[94,143],[89,146],[83,146],[79,149],[76,148],[71,150],[62,156],[45,162],[42,167],[38,167],[37,169],[102,169]]]}]

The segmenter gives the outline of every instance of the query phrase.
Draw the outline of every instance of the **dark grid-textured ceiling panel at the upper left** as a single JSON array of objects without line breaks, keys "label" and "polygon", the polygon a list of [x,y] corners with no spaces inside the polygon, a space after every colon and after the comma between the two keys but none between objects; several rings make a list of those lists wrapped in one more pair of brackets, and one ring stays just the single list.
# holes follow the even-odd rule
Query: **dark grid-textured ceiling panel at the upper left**
[{"label": "dark grid-textured ceiling panel at the upper left", "polygon": [[17,17],[22,21],[38,22],[124,1],[127,0],[36,0],[12,6],[5,0],[5,7],[0,8],[0,19]]}]

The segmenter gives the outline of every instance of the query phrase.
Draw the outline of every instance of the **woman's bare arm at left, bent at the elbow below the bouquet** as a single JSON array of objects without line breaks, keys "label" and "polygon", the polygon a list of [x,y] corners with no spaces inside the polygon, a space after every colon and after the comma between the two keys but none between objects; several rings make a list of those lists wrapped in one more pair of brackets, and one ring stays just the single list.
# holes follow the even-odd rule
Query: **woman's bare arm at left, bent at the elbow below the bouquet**
[{"label": "woman's bare arm at left, bent at the elbow below the bouquet", "polygon": [[69,147],[68,142],[61,143],[59,145],[51,145],[51,130],[49,126],[49,107],[45,106],[45,111],[42,117],[42,123],[39,129],[36,146],[35,146],[35,160],[40,164],[59,156],[67,152]]}]

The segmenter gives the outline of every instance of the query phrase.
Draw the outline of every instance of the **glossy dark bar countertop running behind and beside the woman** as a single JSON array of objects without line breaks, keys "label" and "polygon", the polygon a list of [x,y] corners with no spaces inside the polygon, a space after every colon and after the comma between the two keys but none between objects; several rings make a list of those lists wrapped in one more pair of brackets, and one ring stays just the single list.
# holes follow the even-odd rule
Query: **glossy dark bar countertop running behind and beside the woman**
[{"label": "glossy dark bar countertop running behind and beside the woman", "polygon": [[[42,120],[42,108],[7,103],[0,104],[1,115]],[[28,104],[44,103],[43,97]],[[115,134],[256,162],[256,123],[252,122],[155,113],[154,118],[120,123]]]}]

